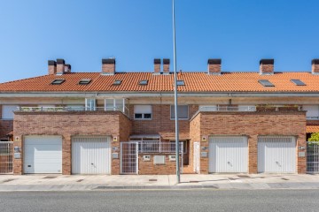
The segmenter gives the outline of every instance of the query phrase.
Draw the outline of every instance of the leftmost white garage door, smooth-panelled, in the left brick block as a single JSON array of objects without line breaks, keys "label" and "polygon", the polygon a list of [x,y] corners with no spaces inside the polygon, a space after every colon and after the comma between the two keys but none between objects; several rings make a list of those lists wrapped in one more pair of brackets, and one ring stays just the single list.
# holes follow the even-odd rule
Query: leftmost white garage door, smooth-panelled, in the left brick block
[{"label": "leftmost white garage door, smooth-panelled, in the left brick block", "polygon": [[61,136],[26,136],[24,140],[24,172],[57,174],[62,172]]}]

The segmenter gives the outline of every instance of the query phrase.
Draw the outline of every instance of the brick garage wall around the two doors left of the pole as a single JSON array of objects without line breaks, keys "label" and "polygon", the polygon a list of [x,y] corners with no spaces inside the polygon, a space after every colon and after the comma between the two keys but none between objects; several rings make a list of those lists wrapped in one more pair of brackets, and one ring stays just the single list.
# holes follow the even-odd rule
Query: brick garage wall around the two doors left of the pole
[{"label": "brick garage wall around the two doors left of the pole", "polygon": [[[21,148],[23,158],[23,136],[61,135],[62,173],[71,174],[71,137],[73,135],[110,135],[119,141],[128,140],[131,123],[118,111],[77,112],[15,112],[14,146]],[[120,155],[120,142],[112,140],[113,153]],[[115,149],[114,149],[115,148]],[[23,159],[14,160],[14,173],[23,173]],[[120,173],[120,159],[112,159],[112,174]]]}]

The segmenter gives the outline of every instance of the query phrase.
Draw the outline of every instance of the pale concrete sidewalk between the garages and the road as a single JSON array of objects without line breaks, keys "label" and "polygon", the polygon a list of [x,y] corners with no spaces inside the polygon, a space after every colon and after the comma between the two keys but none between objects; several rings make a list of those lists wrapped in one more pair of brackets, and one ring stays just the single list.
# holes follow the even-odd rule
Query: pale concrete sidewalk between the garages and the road
[{"label": "pale concrete sidewalk between the garages and the road", "polygon": [[319,175],[0,175],[0,191],[115,189],[319,189]]}]

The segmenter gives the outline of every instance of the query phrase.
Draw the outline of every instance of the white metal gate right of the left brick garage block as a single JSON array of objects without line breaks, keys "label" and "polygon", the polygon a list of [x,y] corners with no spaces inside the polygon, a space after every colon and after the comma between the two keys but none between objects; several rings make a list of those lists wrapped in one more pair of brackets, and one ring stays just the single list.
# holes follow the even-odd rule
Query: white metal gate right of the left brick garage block
[{"label": "white metal gate right of the left brick garage block", "polygon": [[138,174],[138,142],[121,142],[121,174]]}]

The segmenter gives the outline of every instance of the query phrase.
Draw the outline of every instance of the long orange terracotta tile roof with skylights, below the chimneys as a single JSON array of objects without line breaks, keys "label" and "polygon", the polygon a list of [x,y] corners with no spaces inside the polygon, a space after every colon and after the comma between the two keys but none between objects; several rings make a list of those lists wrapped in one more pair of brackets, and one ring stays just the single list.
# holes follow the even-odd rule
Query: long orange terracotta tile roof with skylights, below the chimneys
[{"label": "long orange terracotta tile roof with skylights, below the chimneys", "polygon": [[[66,79],[61,85],[51,85],[54,79]],[[79,85],[80,79],[92,79],[89,85]],[[120,86],[113,86],[115,79],[121,79]],[[138,81],[148,79],[148,85],[138,85]],[[206,72],[183,72],[185,86],[182,92],[319,92],[319,75],[310,72],[276,72],[260,75],[257,72],[222,72],[222,75],[208,75]],[[258,80],[268,79],[275,87],[263,87]],[[300,79],[306,86],[296,86],[291,79]],[[154,75],[152,72],[117,72],[113,76],[100,72],[73,72],[62,76],[45,75],[31,79],[21,79],[0,83],[0,92],[32,91],[105,91],[105,92],[171,92],[173,74]]]}]

